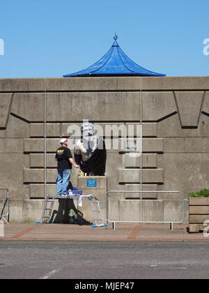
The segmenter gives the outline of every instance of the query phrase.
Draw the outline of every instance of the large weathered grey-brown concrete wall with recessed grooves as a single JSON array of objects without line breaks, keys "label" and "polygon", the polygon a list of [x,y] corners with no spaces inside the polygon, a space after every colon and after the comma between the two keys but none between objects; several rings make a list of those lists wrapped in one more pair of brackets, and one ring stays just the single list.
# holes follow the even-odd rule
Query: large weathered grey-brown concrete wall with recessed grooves
[{"label": "large weathered grey-brown concrete wall with recessed grooves", "polygon": [[[102,128],[143,121],[142,174],[140,156],[121,148],[123,137],[119,137],[118,149],[107,149],[107,190],[180,190],[186,198],[189,191],[209,187],[209,77],[1,79],[0,187],[10,192],[10,220],[40,219],[45,119],[48,194],[56,191],[54,153],[59,139],[68,137],[68,126],[80,125],[83,119]],[[77,170],[71,179],[76,186]],[[125,220],[136,218],[133,211],[140,209],[140,203],[125,202],[126,197],[109,195],[111,217],[121,219],[123,210]],[[157,198],[158,202],[148,202],[148,210],[159,209],[164,218],[182,210],[176,195],[144,197]]]}]

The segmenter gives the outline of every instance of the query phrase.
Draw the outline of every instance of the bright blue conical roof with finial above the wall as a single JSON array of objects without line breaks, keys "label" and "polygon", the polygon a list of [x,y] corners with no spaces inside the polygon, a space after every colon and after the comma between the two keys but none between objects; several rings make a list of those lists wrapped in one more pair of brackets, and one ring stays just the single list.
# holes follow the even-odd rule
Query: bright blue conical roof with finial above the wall
[{"label": "bright blue conical roof with finial above the wall", "polygon": [[104,56],[88,68],[63,75],[63,77],[74,76],[108,76],[108,75],[138,75],[138,76],[165,76],[161,73],[155,73],[147,70],[137,63],[134,63],[127,55],[121,50],[121,47],[116,41],[117,36],[114,37],[115,41],[109,51]]}]

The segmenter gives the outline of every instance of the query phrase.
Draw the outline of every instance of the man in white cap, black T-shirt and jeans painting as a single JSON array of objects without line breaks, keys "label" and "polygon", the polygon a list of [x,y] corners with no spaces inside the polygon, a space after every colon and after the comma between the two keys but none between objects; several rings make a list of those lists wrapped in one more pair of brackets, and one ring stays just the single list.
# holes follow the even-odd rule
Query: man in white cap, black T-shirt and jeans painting
[{"label": "man in white cap, black T-shirt and jeans painting", "polygon": [[60,140],[61,147],[56,150],[55,159],[57,160],[57,180],[56,180],[56,192],[57,195],[67,195],[68,184],[70,183],[70,174],[72,171],[72,165],[75,168],[79,168],[73,158],[70,149],[68,149],[68,140],[62,138]]}]

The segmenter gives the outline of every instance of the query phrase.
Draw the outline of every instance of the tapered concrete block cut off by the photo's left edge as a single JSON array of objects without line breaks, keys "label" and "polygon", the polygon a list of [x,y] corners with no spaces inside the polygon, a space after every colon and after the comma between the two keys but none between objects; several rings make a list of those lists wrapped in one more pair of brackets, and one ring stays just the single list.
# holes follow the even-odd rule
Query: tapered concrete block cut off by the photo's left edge
[{"label": "tapered concrete block cut off by the photo's left edge", "polygon": [[0,93],[0,128],[7,126],[12,96],[12,93]]}]

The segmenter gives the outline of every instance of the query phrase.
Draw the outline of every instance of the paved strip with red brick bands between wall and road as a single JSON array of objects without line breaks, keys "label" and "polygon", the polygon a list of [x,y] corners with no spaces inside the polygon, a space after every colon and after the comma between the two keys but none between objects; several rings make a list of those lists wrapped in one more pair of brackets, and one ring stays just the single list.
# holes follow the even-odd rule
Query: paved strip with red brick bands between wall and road
[{"label": "paved strip with red brick bands between wall and road", "polygon": [[91,225],[72,224],[4,224],[2,241],[72,241],[72,242],[121,242],[121,241],[209,241],[203,233],[187,232],[187,224],[117,224],[91,227]]}]

